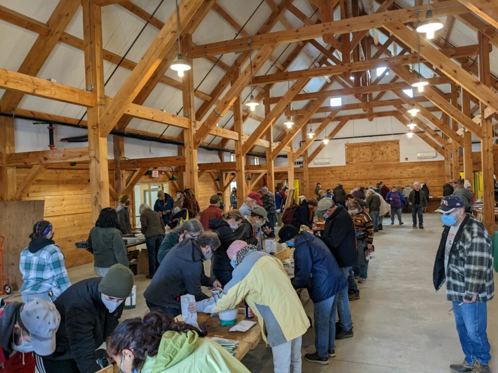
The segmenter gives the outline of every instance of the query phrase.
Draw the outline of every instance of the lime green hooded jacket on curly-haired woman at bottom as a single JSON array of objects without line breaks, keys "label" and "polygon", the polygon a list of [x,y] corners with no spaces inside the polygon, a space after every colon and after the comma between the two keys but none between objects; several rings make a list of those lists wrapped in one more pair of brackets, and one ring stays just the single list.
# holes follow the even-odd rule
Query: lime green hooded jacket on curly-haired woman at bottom
[{"label": "lime green hooded jacket on curly-haired woman at bottom", "polygon": [[249,370],[211,339],[188,331],[167,331],[156,356],[145,358],[139,373],[248,373]]}]

